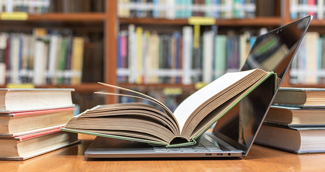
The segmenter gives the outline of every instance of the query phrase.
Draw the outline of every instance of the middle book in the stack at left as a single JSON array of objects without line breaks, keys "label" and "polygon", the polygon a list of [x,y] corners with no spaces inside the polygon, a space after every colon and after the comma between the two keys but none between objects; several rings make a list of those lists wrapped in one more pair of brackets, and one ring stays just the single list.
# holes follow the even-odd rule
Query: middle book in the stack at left
[{"label": "middle book in the stack at left", "polygon": [[0,113],[0,137],[16,137],[62,127],[76,108]]}]

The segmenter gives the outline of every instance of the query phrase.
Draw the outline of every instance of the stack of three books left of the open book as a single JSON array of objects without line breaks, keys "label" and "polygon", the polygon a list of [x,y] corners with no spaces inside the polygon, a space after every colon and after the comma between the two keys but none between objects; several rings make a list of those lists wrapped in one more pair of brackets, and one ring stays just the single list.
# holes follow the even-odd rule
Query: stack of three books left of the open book
[{"label": "stack of three books left of the open book", "polygon": [[78,142],[61,132],[74,89],[0,89],[0,159],[24,160]]}]

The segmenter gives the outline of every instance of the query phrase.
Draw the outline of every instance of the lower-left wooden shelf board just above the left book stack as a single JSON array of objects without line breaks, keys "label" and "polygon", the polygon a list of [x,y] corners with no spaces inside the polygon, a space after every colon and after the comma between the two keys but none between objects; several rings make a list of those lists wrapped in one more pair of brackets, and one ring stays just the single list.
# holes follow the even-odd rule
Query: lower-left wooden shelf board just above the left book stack
[{"label": "lower-left wooden shelf board just above the left book stack", "polygon": [[[6,88],[5,85],[0,85],[0,88]],[[75,89],[75,92],[95,92],[105,90],[101,84],[98,83],[82,83],[80,85],[41,85],[36,86],[36,89]]]}]

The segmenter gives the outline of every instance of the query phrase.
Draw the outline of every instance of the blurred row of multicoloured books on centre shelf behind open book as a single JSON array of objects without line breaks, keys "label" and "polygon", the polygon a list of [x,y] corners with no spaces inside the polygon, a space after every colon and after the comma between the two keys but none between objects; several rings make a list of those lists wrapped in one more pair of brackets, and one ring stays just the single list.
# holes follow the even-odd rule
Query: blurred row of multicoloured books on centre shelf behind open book
[{"label": "blurred row of multicoloured books on centre shelf behind open book", "polygon": [[130,24],[117,41],[117,81],[129,83],[205,83],[226,72],[239,71],[255,37],[243,34],[217,34],[217,26],[204,31],[194,47],[193,28],[182,33],[159,34]]}]

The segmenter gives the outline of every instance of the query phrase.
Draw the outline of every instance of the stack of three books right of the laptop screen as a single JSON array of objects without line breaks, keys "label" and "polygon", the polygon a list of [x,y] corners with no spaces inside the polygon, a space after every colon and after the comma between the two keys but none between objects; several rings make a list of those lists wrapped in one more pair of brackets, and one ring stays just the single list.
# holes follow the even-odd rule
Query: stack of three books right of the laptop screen
[{"label": "stack of three books right of the laptop screen", "polygon": [[325,89],[280,88],[255,143],[302,153],[325,152]]}]

